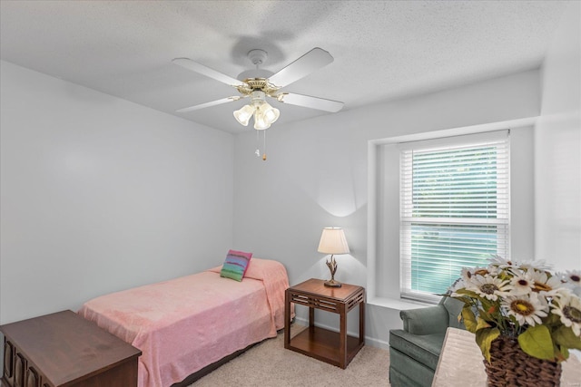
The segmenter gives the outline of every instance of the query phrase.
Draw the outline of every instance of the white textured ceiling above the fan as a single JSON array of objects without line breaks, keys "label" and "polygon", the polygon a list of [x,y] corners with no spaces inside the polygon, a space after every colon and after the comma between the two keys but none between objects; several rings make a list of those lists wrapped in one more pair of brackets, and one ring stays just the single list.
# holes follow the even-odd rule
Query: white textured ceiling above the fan
[{"label": "white textured ceiling above the fan", "polygon": [[[313,47],[335,61],[285,88],[365,104],[537,68],[558,1],[0,1],[5,61],[232,133],[246,101],[176,113],[237,92],[172,64],[188,57],[231,77],[251,49],[277,72]],[[271,100],[270,100],[271,101]],[[274,125],[332,114],[271,102]]]}]

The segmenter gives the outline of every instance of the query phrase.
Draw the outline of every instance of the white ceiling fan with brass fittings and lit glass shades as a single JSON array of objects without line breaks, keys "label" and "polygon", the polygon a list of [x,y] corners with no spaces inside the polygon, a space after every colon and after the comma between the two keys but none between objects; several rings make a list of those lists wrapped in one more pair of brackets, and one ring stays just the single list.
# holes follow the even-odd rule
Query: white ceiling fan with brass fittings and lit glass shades
[{"label": "white ceiling fan with brass fittings and lit glass shades", "polygon": [[222,103],[241,100],[250,97],[251,102],[244,105],[240,110],[234,111],[236,121],[244,126],[252,117],[254,117],[254,129],[265,130],[271,127],[271,123],[278,120],[280,111],[273,108],[266,98],[270,97],[278,102],[289,103],[291,105],[303,106],[320,111],[336,112],[343,107],[343,102],[326,100],[309,95],[296,94],[292,92],[281,92],[281,89],[292,82],[299,81],[301,78],[309,75],[315,70],[333,62],[330,53],[319,47],[313,48],[310,52],[305,53],[293,63],[284,67],[278,73],[271,73],[267,70],[259,69],[259,66],[266,62],[268,53],[263,50],[251,50],[248,53],[251,63],[256,65],[255,70],[245,71],[238,78],[231,78],[229,75],[217,72],[201,63],[197,63],[188,58],[176,58],[172,63],[178,64],[195,73],[201,73],[207,77],[226,83],[234,87],[240,95],[222,98],[220,100],[205,102],[202,104],[186,107],[177,110],[177,112],[196,111],[210,106],[220,105]]}]

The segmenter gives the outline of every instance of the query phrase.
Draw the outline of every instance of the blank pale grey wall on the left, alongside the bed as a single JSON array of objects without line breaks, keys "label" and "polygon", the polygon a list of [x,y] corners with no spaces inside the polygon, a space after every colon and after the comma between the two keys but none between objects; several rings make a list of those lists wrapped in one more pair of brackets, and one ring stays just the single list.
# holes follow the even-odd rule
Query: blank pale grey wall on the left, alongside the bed
[{"label": "blank pale grey wall on the left, alongside the bed", "polygon": [[0,69],[0,324],[222,263],[230,134]]}]

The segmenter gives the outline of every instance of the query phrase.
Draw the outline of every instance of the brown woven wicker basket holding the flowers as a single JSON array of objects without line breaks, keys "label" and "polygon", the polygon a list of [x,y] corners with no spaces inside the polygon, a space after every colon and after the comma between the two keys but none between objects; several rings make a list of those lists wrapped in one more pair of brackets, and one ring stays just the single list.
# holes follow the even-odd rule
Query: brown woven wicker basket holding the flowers
[{"label": "brown woven wicker basket holding the flowers", "polygon": [[484,360],[488,386],[556,387],[561,363],[537,359],[523,352],[517,339],[499,336],[490,345],[490,363]]}]

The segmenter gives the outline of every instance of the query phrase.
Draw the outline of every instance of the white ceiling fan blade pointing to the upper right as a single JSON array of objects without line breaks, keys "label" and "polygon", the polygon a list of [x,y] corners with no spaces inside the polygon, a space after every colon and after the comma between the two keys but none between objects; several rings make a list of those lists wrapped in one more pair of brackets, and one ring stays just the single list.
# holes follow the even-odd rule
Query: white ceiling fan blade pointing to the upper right
[{"label": "white ceiling fan blade pointing to the upper right", "polygon": [[269,78],[272,84],[284,87],[292,82],[299,81],[315,70],[333,62],[333,57],[325,50],[315,47],[309,53],[305,53],[299,59],[275,73]]}]

